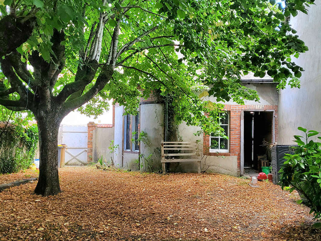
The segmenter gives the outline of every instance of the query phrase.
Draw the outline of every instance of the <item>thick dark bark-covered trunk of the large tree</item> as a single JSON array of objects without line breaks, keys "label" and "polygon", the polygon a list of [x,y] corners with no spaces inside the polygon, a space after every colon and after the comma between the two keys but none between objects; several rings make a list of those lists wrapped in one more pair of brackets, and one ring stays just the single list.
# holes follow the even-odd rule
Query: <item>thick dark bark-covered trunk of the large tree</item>
[{"label": "thick dark bark-covered trunk of the large tree", "polygon": [[[43,116],[45,117],[45,116]],[[35,193],[43,196],[61,192],[58,176],[58,129],[60,122],[50,115],[37,118],[40,164]],[[59,123],[57,123],[59,122]]]}]

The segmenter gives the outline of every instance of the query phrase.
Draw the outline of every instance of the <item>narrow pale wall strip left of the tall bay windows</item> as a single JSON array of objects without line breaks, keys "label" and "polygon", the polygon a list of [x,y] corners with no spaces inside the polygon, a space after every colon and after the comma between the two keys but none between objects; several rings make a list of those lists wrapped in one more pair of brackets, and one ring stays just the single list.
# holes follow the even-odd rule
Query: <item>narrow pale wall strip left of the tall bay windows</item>
[{"label": "narrow pale wall strip left of the tall bay windows", "polygon": [[123,106],[115,106],[115,134],[114,145],[118,147],[114,151],[114,164],[122,167],[122,148],[123,148]]}]

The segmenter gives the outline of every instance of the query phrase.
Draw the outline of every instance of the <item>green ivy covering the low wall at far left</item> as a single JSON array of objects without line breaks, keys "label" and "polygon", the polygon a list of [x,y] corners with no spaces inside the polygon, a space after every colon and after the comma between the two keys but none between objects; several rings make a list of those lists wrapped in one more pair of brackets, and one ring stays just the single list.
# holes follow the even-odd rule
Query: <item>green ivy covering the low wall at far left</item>
[{"label": "green ivy covering the low wall at far left", "polygon": [[0,140],[0,173],[13,173],[28,168],[34,161],[38,137],[37,126],[24,128],[8,125]]}]

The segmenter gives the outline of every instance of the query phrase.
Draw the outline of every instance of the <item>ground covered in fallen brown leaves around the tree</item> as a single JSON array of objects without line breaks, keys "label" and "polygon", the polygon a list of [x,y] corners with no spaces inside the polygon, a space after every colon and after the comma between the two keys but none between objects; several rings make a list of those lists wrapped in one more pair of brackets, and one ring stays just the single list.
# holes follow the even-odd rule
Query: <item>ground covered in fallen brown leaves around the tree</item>
[{"label": "ground covered in fallen brown leaves around the tree", "polygon": [[57,196],[36,183],[0,193],[0,240],[321,240],[279,186],[219,174],[59,169]]}]

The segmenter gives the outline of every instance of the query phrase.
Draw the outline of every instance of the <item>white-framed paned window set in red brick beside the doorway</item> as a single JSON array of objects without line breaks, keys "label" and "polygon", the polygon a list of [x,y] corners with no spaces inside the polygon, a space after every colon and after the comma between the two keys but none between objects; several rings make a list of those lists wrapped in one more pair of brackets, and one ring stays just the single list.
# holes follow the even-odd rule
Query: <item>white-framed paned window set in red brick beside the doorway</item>
[{"label": "white-framed paned window set in red brick beside the doorway", "polygon": [[[229,118],[229,112],[219,113],[218,121],[220,123],[221,128],[224,129],[225,136],[229,137],[230,134],[230,118]],[[210,150],[213,151],[229,151],[229,140],[220,137],[220,136],[214,136],[214,133],[212,133],[210,137]]]}]

